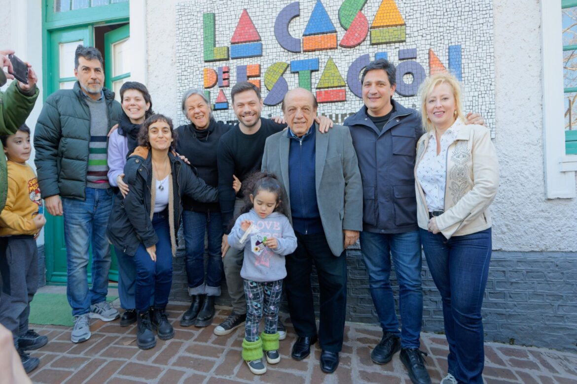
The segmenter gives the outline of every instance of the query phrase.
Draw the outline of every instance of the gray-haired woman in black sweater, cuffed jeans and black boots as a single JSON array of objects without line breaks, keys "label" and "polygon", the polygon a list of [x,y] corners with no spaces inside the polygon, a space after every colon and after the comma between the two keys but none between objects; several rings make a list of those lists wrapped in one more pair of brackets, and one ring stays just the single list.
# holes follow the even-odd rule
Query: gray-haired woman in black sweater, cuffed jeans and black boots
[{"label": "gray-haired woman in black sweater, cuffed jeans and black boots", "polygon": [[[210,103],[200,89],[189,89],[182,96],[182,113],[190,120],[177,128],[177,152],[190,160],[198,177],[212,187],[218,187],[216,147],[220,137],[233,126],[218,123],[212,117]],[[237,179],[238,180],[238,179]],[[231,180],[233,183],[233,180]],[[238,192],[239,181],[233,188]],[[182,223],[186,245],[186,275],[190,308],[182,315],[182,326],[207,326],[215,314],[215,298],[220,296],[223,263],[220,257],[222,216],[218,202],[205,203],[183,197]],[[205,277],[204,238],[208,238],[208,264]]]}]

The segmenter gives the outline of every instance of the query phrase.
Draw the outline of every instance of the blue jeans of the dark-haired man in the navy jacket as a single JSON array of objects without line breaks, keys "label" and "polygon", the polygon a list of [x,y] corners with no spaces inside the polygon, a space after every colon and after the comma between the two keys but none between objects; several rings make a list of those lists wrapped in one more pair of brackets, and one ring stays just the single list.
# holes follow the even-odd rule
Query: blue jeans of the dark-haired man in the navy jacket
[{"label": "blue jeans of the dark-haired man in the navy jacket", "polygon": [[[383,332],[400,335],[403,348],[418,348],[423,317],[419,231],[394,234],[362,231],[361,252],[369,273],[370,295]],[[389,282],[391,258],[399,283],[401,332]]]}]

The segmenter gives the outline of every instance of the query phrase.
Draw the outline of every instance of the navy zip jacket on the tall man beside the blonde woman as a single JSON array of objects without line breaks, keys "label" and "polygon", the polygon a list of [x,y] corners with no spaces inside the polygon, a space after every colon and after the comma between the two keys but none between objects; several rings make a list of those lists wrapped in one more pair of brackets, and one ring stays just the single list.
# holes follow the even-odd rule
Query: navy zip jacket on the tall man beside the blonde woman
[{"label": "navy zip jacket on the tall man beside the blonde woman", "polygon": [[366,107],[344,120],[357,151],[363,189],[363,230],[406,233],[417,230],[415,148],[423,133],[421,116],[394,99],[395,112],[379,131]]}]

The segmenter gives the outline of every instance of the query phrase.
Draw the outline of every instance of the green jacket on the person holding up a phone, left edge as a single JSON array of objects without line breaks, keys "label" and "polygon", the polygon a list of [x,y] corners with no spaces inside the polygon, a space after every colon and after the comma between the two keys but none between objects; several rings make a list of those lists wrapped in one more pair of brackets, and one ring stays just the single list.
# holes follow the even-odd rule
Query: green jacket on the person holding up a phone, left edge
[{"label": "green jacket on the person holding up a phone, left edge", "polygon": [[[0,72],[2,75],[4,74],[1,68]],[[30,115],[39,93],[40,91],[36,86],[28,92],[21,90],[18,88],[17,81],[10,83],[6,92],[0,91],[0,135],[16,133]],[[6,156],[2,153],[0,154],[0,211],[4,209],[4,204],[6,204],[7,176]]]}]

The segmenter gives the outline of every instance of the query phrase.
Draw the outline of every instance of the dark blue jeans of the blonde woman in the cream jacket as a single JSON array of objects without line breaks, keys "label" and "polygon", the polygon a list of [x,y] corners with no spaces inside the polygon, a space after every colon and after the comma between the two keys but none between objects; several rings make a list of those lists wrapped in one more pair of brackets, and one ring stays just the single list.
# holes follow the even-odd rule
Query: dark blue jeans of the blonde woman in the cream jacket
[{"label": "dark blue jeans of the blonde woman in the cream jacket", "polygon": [[421,229],[433,281],[443,299],[449,373],[459,382],[482,383],[485,362],[481,305],[491,260],[491,229],[446,239]]}]

